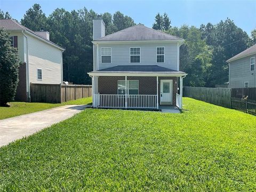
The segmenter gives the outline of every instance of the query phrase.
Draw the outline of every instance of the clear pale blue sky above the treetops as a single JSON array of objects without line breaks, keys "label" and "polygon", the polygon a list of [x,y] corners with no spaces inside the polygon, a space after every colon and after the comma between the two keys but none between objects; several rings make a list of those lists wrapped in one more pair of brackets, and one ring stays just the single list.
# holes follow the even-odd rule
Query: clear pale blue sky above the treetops
[{"label": "clear pale blue sky above the treetops", "polygon": [[86,9],[100,13],[109,12],[114,14],[121,11],[130,16],[135,23],[143,23],[152,27],[155,15],[159,12],[166,12],[171,25],[180,27],[183,24],[199,27],[202,23],[211,22],[213,25],[220,20],[230,18],[235,24],[251,35],[256,28],[256,0],[254,1],[152,1],[152,0],[130,0],[130,1],[68,1],[68,0],[27,0],[27,1],[6,1],[0,0],[0,9],[8,11],[12,18],[20,21],[26,11],[38,3],[43,12],[51,14],[57,8],[64,8],[67,11]]}]

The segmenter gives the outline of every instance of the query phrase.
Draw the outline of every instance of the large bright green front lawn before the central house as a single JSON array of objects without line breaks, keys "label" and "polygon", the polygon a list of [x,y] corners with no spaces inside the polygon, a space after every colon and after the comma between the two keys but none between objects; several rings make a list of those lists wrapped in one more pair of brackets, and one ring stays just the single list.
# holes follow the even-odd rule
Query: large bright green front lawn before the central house
[{"label": "large bright green front lawn before the central house", "polygon": [[0,148],[0,191],[255,191],[256,117],[86,109]]}]

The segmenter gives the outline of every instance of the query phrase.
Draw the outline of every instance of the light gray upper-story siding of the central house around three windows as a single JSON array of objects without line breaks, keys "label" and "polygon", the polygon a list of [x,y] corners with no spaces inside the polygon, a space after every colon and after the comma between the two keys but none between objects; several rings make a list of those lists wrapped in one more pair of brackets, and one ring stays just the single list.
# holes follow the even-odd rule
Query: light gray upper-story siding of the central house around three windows
[{"label": "light gray upper-story siding of the central house around three windows", "polygon": [[[101,47],[111,47],[111,63],[101,63]],[[130,47],[140,47],[140,63],[130,62]],[[165,47],[164,62],[156,62],[156,47]],[[174,70],[177,69],[178,43],[99,43],[99,69],[118,65],[158,65]],[[95,63],[94,63],[95,64]]]}]

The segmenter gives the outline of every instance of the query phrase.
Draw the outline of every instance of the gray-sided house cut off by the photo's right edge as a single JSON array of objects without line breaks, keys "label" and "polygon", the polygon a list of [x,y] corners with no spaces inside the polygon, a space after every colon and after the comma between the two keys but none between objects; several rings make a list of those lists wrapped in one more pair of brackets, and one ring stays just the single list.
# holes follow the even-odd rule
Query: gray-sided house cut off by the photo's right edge
[{"label": "gray-sided house cut off by the photo's right edge", "polygon": [[256,44],[227,60],[229,63],[229,87],[256,87]]}]

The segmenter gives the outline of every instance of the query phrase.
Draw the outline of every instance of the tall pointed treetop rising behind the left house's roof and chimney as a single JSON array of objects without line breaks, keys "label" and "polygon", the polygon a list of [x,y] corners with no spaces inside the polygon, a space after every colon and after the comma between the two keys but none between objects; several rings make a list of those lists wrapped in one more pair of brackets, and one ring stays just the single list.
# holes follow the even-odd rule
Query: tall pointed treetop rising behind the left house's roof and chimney
[{"label": "tall pointed treetop rising behind the left house's roof and chimney", "polygon": [[24,18],[21,19],[21,25],[34,31],[45,30],[46,16],[39,4],[34,4],[32,8],[26,11]]}]

